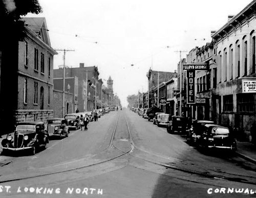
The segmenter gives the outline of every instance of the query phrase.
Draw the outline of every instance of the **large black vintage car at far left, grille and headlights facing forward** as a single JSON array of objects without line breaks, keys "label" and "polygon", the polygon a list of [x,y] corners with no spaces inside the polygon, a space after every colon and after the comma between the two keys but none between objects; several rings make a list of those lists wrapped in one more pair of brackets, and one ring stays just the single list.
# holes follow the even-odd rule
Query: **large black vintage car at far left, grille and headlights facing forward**
[{"label": "large black vintage car at far left, grille and headlights facing forward", "polygon": [[34,155],[39,147],[49,143],[44,122],[20,122],[13,135],[2,140],[3,153],[7,151],[28,150]]}]

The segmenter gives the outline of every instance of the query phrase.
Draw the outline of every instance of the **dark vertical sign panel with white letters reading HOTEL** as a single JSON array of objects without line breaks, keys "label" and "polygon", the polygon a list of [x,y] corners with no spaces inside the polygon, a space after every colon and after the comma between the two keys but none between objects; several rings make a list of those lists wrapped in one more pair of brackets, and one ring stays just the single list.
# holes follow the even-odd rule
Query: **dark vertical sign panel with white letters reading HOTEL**
[{"label": "dark vertical sign panel with white letters reading HOTEL", "polygon": [[195,70],[187,70],[187,104],[196,103]]}]

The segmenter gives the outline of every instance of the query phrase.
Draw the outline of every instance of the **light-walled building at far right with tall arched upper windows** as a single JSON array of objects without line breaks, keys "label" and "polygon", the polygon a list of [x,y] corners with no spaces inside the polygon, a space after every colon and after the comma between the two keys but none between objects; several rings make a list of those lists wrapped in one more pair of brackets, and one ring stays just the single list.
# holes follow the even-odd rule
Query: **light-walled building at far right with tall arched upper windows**
[{"label": "light-walled building at far right with tall arched upper windows", "polygon": [[256,1],[212,34],[217,56],[217,85],[213,90],[213,107],[220,123],[250,131],[256,122],[256,93],[248,93],[242,82],[256,81],[255,37]]}]

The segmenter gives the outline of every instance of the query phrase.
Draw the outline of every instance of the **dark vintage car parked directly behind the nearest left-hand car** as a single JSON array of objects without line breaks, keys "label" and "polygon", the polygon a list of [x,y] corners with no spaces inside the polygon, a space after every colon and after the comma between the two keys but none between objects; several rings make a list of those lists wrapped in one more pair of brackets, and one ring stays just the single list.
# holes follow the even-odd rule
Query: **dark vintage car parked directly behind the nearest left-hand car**
[{"label": "dark vintage car parked directly behind the nearest left-hand car", "polygon": [[63,118],[52,118],[47,120],[47,131],[49,136],[60,138],[69,136],[69,127],[67,120]]}]

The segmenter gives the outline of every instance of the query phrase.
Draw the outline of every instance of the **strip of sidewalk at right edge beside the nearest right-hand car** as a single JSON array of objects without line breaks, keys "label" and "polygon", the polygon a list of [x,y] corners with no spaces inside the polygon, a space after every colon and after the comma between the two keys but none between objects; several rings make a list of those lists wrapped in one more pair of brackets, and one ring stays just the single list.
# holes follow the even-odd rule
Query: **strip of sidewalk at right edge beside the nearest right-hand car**
[{"label": "strip of sidewalk at right edge beside the nearest right-hand car", "polygon": [[251,163],[256,164],[256,145],[250,142],[237,141],[237,155]]}]

